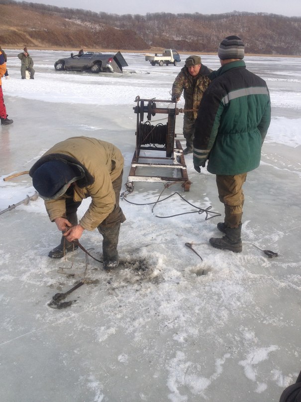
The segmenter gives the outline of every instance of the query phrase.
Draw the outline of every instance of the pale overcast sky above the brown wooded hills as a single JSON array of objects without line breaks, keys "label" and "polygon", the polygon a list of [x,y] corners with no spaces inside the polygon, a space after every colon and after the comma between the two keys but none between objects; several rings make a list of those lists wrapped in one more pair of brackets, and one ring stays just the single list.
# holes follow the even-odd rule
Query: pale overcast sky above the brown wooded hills
[{"label": "pale overcast sky above the brown wooded hills", "polygon": [[96,12],[107,12],[114,14],[141,14],[147,12],[171,12],[201,14],[220,14],[231,11],[248,12],[267,12],[272,14],[281,14],[287,16],[301,16],[300,0],[227,0],[227,1],[194,1],[186,2],[183,0],[28,0],[33,3],[43,3],[57,5],[59,7],[82,8]]}]

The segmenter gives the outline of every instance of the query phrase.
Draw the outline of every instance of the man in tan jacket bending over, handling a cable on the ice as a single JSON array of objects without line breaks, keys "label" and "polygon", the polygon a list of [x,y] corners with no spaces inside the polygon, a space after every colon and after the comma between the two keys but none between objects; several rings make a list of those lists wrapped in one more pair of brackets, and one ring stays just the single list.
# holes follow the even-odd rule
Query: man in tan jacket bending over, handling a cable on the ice
[{"label": "man in tan jacket bending over, handling a cable on the ice", "polygon": [[[103,237],[103,268],[115,268],[118,260],[120,224],[125,216],[119,207],[123,156],[113,144],[79,136],[57,143],[31,167],[29,175],[51,222],[63,232],[50,258],[62,258],[78,248],[75,240],[84,230],[98,229]],[[77,209],[84,198],[91,204],[78,223]]]}]

